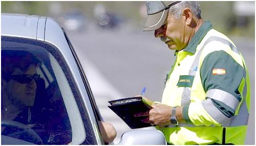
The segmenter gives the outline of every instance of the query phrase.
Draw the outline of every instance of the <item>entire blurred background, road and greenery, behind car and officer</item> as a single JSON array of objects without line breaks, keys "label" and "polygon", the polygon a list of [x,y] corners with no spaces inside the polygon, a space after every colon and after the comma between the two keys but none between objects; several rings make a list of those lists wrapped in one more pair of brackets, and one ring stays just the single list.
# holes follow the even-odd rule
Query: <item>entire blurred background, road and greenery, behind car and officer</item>
[{"label": "entire blurred background, road and greenery, behind car and officer", "polygon": [[[251,81],[251,110],[245,144],[255,144],[255,2],[199,2],[204,20],[227,35],[243,54]],[[131,130],[108,108],[108,101],[140,94],[161,101],[174,52],[143,32],[145,2],[1,2],[2,13],[51,16],[67,32],[86,72],[103,119],[120,141]]]}]

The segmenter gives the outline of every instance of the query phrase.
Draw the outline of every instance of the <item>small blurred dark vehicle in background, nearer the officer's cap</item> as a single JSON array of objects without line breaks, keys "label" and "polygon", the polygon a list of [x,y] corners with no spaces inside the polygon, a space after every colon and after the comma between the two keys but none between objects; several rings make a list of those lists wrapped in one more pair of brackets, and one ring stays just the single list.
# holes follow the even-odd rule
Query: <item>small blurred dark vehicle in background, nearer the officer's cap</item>
[{"label": "small blurred dark vehicle in background, nearer the officer's cap", "polygon": [[113,29],[119,27],[124,21],[123,17],[118,14],[106,13],[98,18],[100,27],[105,29]]}]

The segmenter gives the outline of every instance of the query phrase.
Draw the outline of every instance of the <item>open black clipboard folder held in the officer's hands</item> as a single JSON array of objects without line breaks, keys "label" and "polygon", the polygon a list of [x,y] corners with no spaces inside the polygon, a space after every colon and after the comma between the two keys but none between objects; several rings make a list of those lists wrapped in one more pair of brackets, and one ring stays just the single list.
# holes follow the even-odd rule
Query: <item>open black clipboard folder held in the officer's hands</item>
[{"label": "open black clipboard folder held in the officer's hands", "polygon": [[146,118],[135,117],[135,113],[145,112],[151,109],[152,101],[147,102],[141,96],[126,98],[120,100],[109,101],[109,108],[114,111],[130,128],[150,127],[151,124],[144,123],[141,119]]}]

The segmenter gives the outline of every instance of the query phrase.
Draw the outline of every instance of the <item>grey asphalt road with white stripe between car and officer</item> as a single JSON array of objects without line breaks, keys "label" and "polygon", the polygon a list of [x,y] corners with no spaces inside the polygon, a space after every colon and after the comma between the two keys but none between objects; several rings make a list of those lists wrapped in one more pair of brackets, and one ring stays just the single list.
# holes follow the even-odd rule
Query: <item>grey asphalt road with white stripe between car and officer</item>
[{"label": "grey asphalt road with white stripe between car and officer", "polygon": [[[143,87],[146,87],[145,96],[161,101],[164,79],[175,61],[174,51],[168,50],[153,32],[129,27],[107,30],[90,26],[83,32],[68,32],[68,36],[87,74],[103,119],[117,130],[116,144],[121,134],[131,129],[108,108],[108,101],[138,95]],[[230,38],[249,68],[251,113],[245,144],[254,145],[255,42],[254,39]]]}]

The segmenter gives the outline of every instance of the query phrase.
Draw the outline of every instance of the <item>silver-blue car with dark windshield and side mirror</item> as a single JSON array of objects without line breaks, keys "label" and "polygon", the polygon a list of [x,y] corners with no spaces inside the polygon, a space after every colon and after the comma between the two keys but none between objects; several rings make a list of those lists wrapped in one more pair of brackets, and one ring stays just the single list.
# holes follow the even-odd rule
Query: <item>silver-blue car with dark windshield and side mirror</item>
[{"label": "silver-blue car with dark windshield and side mirror", "polygon": [[[1,20],[1,144],[105,144],[65,31],[49,17],[2,13]],[[165,143],[158,130],[133,130],[118,144]]]}]

